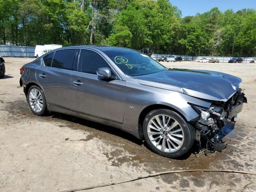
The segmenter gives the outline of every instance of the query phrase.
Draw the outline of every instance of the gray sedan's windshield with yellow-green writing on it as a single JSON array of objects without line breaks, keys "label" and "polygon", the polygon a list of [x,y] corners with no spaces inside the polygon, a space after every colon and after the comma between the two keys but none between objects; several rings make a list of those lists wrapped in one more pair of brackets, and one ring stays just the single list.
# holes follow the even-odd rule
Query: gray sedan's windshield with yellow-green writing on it
[{"label": "gray sedan's windshield with yellow-green writing on it", "polygon": [[133,50],[108,50],[104,53],[127,75],[139,76],[166,71],[152,58]]}]

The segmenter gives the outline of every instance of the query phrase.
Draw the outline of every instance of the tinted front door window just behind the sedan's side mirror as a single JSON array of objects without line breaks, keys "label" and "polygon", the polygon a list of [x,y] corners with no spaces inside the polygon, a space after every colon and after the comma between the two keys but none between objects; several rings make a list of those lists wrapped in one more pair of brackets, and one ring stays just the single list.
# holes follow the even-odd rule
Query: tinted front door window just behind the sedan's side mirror
[{"label": "tinted front door window just behind the sedan's side mirror", "polygon": [[96,74],[98,68],[108,67],[108,63],[98,53],[82,49],[79,56],[78,71]]}]

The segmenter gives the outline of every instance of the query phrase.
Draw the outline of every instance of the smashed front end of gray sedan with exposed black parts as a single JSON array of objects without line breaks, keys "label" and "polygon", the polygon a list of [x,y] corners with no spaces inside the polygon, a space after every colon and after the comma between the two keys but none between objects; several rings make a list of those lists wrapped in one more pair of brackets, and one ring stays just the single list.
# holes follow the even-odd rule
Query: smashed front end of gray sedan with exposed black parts
[{"label": "smashed front end of gray sedan with exposed black parts", "polygon": [[196,128],[196,140],[204,137],[214,150],[222,151],[226,145],[221,144],[218,134],[221,128],[235,123],[235,116],[242,111],[243,104],[247,103],[241,88],[226,102],[214,101],[210,108],[204,108],[190,104],[198,112],[199,117],[192,120],[191,124]]}]

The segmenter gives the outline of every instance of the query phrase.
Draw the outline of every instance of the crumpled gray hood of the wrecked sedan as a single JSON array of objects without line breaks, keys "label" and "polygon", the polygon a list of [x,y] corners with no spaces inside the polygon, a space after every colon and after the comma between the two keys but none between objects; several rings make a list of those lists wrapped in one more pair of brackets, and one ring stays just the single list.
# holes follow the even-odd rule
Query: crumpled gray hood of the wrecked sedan
[{"label": "crumpled gray hood of the wrecked sedan", "polygon": [[224,102],[238,90],[242,82],[240,78],[229,74],[192,69],[170,69],[136,78],[142,85]]}]

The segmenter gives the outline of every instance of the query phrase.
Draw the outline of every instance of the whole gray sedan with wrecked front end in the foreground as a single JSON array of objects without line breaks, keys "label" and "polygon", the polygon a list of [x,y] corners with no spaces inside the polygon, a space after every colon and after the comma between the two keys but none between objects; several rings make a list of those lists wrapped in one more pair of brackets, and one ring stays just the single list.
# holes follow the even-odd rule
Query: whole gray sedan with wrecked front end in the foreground
[{"label": "whole gray sedan with wrecked front end in the foreground", "polygon": [[36,115],[48,111],[120,128],[175,158],[202,138],[215,147],[246,97],[240,78],[170,69],[128,48],[72,46],[24,65],[21,80]]}]

